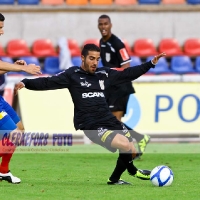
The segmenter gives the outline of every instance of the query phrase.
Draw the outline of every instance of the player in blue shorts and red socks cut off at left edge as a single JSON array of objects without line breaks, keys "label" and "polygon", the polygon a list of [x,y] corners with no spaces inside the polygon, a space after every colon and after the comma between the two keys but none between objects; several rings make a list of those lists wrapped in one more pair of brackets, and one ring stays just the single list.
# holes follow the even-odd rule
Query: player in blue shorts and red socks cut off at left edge
[{"label": "player in blue shorts and red socks cut off at left edge", "polygon": [[[0,36],[3,35],[5,17],[0,13]],[[34,64],[26,65],[23,60],[17,61],[15,64],[6,63],[0,60],[0,74],[10,71],[24,71],[29,74],[41,74],[40,67]],[[12,175],[9,170],[9,163],[15,151],[15,144],[12,143],[5,135],[12,135],[13,132],[21,132],[24,130],[17,113],[13,108],[0,96],[0,181],[5,180],[9,183],[20,183],[18,177]]]}]

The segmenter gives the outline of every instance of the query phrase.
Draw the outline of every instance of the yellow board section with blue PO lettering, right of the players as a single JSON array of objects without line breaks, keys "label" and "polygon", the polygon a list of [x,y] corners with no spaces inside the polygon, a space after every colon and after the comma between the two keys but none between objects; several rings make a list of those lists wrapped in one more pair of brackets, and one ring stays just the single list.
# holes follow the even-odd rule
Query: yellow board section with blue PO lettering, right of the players
[{"label": "yellow board section with blue PO lettering, right of the players", "polygon": [[200,134],[199,83],[134,83],[123,121],[142,133]]}]

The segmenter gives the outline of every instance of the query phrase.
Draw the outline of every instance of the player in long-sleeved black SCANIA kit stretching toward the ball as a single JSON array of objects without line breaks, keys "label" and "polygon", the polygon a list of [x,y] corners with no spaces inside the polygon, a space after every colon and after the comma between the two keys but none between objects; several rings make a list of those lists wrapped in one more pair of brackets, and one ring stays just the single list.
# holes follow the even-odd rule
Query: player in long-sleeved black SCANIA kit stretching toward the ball
[{"label": "player in long-sleeved black SCANIA kit stretching toward the ball", "polygon": [[133,164],[132,153],[135,148],[128,129],[111,113],[105,99],[104,91],[112,86],[135,80],[154,68],[164,53],[155,56],[152,61],[123,71],[109,67],[97,68],[100,48],[87,44],[81,52],[81,66],[51,76],[36,79],[23,79],[15,86],[15,94],[23,87],[29,90],[55,90],[68,88],[74,103],[74,126],[83,130],[94,143],[111,152],[119,150],[115,169],[107,184],[130,184],[120,179],[122,173],[128,173],[142,180],[150,179],[149,170],[137,169]]}]

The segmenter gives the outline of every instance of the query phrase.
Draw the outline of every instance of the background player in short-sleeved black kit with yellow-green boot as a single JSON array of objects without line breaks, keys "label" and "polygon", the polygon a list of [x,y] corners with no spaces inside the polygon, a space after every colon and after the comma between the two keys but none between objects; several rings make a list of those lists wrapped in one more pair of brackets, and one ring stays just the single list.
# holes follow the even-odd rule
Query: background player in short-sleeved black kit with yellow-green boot
[{"label": "background player in short-sleeved black kit with yellow-green boot", "polygon": [[[103,66],[110,68],[120,67],[122,69],[130,67],[131,58],[127,53],[124,43],[111,33],[112,24],[108,15],[101,15],[99,17],[98,28],[102,36],[99,46]],[[126,113],[129,96],[133,93],[135,93],[135,90],[131,82],[113,85],[105,92],[109,108],[119,121],[121,121],[121,118]],[[133,156],[140,157],[150,141],[150,136],[139,134],[126,124],[125,126],[138,144],[139,152]]]}]

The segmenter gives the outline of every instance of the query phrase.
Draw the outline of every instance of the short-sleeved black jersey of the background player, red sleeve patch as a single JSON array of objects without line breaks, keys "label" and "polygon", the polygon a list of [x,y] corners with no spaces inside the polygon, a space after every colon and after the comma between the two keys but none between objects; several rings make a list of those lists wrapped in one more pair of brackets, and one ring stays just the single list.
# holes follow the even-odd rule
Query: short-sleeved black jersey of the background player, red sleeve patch
[{"label": "short-sleeved black jersey of the background player, red sleeve patch", "polygon": [[[122,65],[131,62],[131,57],[128,55],[124,43],[114,34],[106,42],[101,38],[100,48],[103,66],[120,68]],[[134,92],[135,90],[131,82],[117,86],[113,85],[113,87],[106,91],[107,102],[108,104],[114,104],[117,99]]]}]

